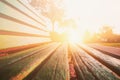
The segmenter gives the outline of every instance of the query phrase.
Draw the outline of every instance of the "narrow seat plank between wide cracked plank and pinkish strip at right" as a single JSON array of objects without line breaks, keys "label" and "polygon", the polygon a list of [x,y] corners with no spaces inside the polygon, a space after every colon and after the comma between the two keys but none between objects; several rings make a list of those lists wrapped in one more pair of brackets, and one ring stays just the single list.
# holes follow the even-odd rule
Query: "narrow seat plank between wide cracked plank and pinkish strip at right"
[{"label": "narrow seat plank between wide cracked plank and pinkish strip at right", "polygon": [[100,51],[97,51],[91,47],[80,44],[81,48],[83,48],[86,52],[88,52],[95,59],[99,60],[102,64],[107,66],[113,72],[120,76],[120,60],[109,55],[103,54]]}]

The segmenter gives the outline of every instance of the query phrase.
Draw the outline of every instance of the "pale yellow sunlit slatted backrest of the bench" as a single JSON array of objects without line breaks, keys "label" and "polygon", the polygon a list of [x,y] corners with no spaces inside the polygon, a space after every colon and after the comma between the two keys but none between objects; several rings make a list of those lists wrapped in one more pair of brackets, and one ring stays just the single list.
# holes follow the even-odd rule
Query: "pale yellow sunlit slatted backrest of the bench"
[{"label": "pale yellow sunlit slatted backrest of the bench", "polygon": [[0,49],[51,41],[46,22],[24,0],[0,0]]}]

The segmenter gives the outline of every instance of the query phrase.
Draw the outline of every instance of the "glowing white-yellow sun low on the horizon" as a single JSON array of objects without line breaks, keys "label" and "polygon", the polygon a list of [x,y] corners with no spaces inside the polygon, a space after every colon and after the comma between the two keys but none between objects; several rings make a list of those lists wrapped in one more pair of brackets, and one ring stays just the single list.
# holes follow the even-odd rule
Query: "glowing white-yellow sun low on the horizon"
[{"label": "glowing white-yellow sun low on the horizon", "polygon": [[78,29],[67,27],[65,29],[56,29],[56,32],[59,34],[60,39],[67,41],[69,43],[81,43],[83,35]]}]

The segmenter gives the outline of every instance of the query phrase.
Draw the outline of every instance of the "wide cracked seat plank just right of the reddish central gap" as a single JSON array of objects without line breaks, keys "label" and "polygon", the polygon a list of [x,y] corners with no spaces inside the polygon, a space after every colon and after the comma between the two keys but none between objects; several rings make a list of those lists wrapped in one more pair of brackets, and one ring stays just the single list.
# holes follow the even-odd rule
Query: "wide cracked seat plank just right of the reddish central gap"
[{"label": "wide cracked seat plank just right of the reddish central gap", "polygon": [[[119,80],[106,65],[103,65],[76,45],[71,45],[78,80]],[[99,55],[99,54],[98,54]],[[111,61],[112,62],[112,61]],[[114,62],[114,61],[113,61]]]}]

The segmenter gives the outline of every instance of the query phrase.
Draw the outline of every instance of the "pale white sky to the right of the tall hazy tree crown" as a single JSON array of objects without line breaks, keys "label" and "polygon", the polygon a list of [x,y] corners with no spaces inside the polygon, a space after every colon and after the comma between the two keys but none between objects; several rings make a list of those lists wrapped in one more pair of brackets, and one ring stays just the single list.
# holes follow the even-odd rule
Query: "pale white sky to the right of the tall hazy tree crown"
[{"label": "pale white sky to the right of the tall hazy tree crown", "polygon": [[65,0],[65,5],[68,17],[74,17],[80,29],[111,26],[120,33],[120,0]]}]

